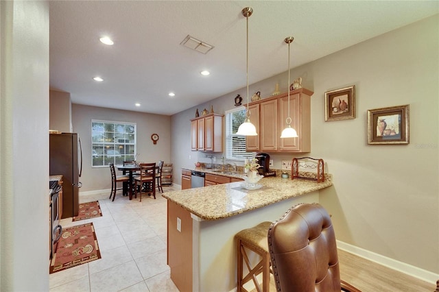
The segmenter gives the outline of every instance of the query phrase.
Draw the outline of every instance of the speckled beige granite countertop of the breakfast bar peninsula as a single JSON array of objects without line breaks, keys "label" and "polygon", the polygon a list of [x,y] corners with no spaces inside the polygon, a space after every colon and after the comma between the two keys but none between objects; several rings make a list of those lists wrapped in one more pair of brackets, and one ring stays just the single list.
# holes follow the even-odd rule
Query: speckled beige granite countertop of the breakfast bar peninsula
[{"label": "speckled beige granite countertop of the breakfast bar peninsula", "polygon": [[[226,176],[230,177],[230,175]],[[162,196],[202,219],[217,220],[332,186],[332,176],[325,174],[325,177],[325,181],[320,183],[311,180],[266,177],[259,180],[258,184],[262,187],[258,190],[249,191],[241,187],[243,182],[231,182],[163,193]]]}]

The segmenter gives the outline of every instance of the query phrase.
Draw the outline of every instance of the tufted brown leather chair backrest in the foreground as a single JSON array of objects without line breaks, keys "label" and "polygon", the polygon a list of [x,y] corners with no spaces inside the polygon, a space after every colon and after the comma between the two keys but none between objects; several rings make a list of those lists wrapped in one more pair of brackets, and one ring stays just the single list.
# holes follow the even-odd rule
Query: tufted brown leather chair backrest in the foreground
[{"label": "tufted brown leather chair backrest in the foreground", "polygon": [[331,217],[320,204],[298,204],[268,230],[277,291],[340,291]]}]

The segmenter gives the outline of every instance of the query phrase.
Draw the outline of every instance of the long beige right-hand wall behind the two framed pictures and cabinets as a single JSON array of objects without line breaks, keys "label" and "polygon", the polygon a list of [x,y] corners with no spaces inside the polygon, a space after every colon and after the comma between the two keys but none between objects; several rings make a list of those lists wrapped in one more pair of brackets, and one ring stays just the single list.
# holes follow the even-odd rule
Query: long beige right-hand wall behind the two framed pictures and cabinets
[{"label": "long beige right-hand wall behind the two framed pictures and cabinets", "polygon": [[[324,159],[335,187],[321,192],[320,203],[333,215],[337,239],[436,276],[439,273],[438,27],[436,15],[292,69],[291,80],[302,77],[303,87],[314,91],[311,153],[270,154],[274,168],[278,169],[281,160],[293,157]],[[250,60],[250,74],[251,62],[256,61]],[[262,97],[268,97],[276,82],[281,92],[286,92],[287,72],[252,84],[250,95],[261,91]],[[325,122],[324,92],[353,84],[356,119]],[[245,97],[246,88],[172,117],[171,160],[177,183],[181,181],[182,167],[192,167],[198,159],[206,159],[204,154],[190,149],[189,120],[194,117],[195,109],[209,109],[213,104],[215,112],[224,113],[234,108],[237,94]],[[403,104],[410,104],[410,145],[368,145],[367,110]]]}]

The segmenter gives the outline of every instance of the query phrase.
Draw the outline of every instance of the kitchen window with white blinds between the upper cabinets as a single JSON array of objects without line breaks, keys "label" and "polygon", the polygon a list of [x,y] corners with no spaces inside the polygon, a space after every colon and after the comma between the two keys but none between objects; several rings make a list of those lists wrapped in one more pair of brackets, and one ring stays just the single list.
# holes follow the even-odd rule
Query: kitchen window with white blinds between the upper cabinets
[{"label": "kitchen window with white blinds between the upper cabinets", "polygon": [[246,119],[245,108],[226,111],[226,158],[244,160],[252,158],[252,152],[246,151],[246,136],[237,135],[239,125]]}]

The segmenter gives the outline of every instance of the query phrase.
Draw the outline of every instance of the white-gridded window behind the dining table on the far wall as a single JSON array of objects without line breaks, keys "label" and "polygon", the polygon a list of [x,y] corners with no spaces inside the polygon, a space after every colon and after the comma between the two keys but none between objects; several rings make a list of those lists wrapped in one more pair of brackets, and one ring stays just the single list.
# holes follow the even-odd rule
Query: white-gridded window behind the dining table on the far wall
[{"label": "white-gridded window behind the dining table on the far wall", "polygon": [[136,156],[136,124],[91,121],[91,166],[122,165]]}]

